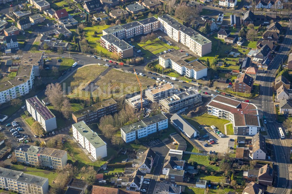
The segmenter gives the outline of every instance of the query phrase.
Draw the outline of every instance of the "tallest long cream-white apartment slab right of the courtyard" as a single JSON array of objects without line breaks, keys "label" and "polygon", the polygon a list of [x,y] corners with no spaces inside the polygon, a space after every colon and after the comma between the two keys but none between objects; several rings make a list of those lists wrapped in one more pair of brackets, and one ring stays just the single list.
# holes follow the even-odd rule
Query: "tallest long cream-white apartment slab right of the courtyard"
[{"label": "tallest long cream-white apartment slab right of the courtyard", "polygon": [[170,15],[158,17],[160,30],[176,42],[181,42],[200,57],[211,52],[212,42],[193,30],[185,27]]}]

